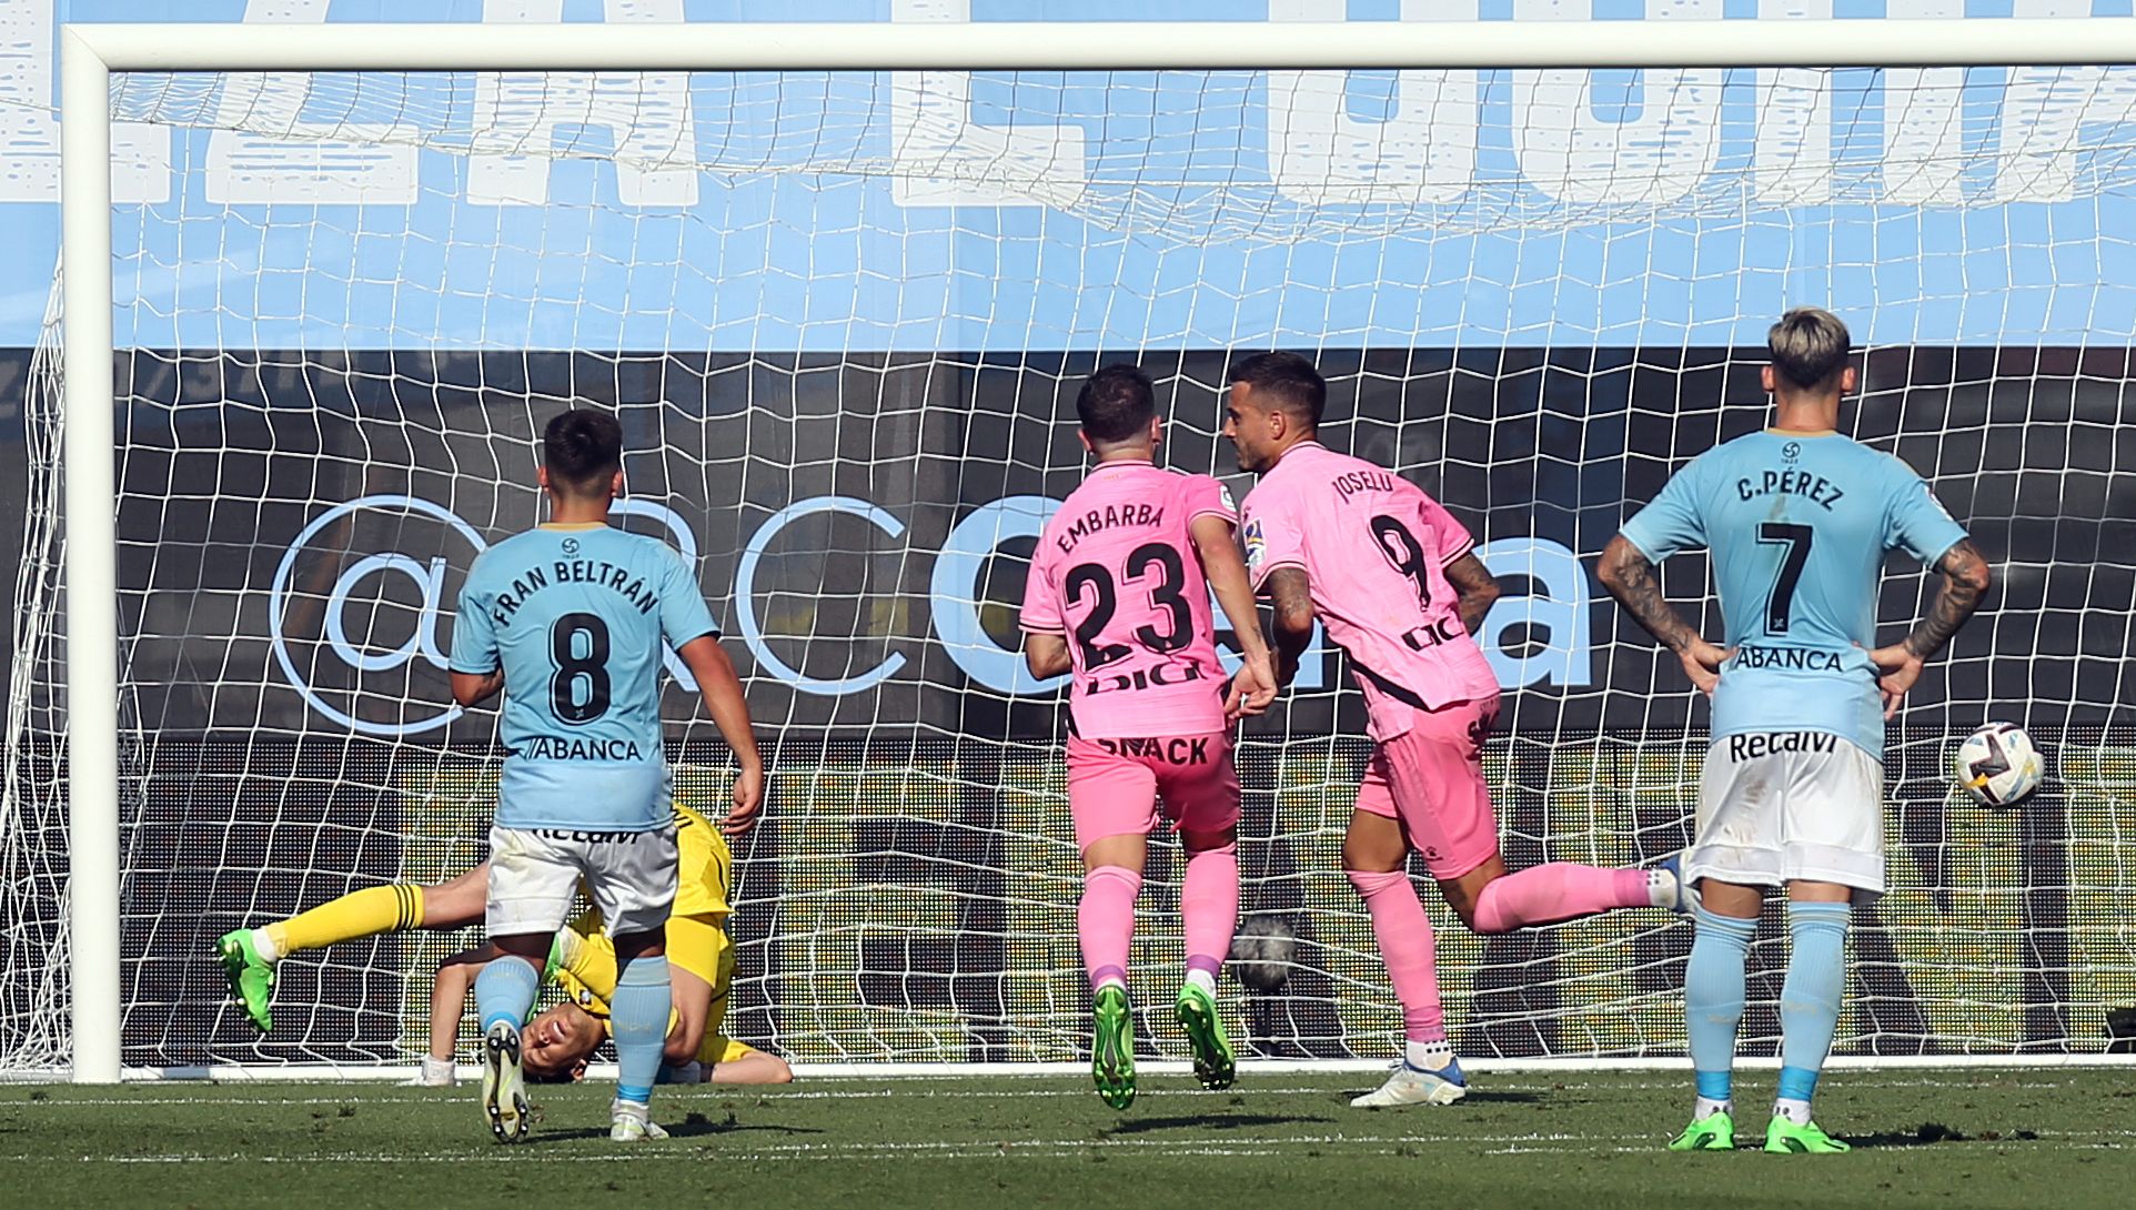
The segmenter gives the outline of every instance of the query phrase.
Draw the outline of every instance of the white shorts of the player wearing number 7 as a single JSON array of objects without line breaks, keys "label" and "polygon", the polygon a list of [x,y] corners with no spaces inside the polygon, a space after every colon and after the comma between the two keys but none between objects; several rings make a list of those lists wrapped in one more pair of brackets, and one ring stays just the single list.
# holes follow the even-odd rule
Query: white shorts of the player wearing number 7
[{"label": "white shorts of the player wearing number 7", "polygon": [[1884,894],[1884,764],[1826,732],[1713,741],[1683,877]]}]

